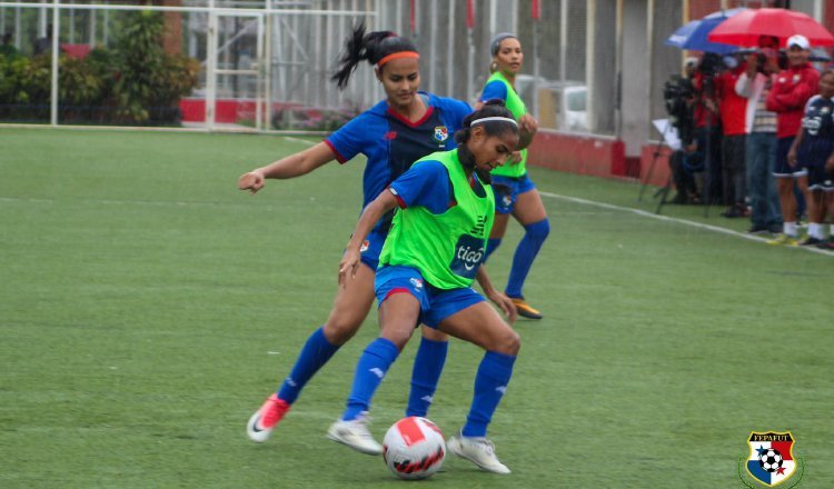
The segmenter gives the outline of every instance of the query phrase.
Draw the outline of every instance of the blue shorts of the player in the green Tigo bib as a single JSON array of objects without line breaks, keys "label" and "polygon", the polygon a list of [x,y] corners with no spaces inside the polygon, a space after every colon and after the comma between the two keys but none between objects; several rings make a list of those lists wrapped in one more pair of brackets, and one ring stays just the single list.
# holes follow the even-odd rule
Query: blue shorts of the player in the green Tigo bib
[{"label": "blue shorts of the player in the green Tigo bib", "polygon": [[420,302],[419,322],[435,329],[449,316],[484,302],[484,296],[470,287],[449,290],[431,287],[423,280],[419,270],[413,267],[384,266],[377,270],[375,288],[380,306],[394,293],[414,296]]}]

